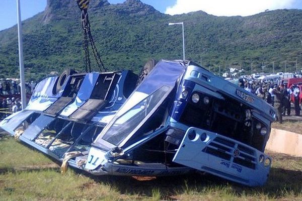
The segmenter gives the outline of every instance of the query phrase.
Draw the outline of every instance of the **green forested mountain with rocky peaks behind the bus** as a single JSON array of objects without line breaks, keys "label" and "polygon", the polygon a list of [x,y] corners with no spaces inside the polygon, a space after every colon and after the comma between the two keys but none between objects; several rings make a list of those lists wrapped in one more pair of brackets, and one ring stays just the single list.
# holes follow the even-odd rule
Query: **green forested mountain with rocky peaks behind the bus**
[{"label": "green forested mountain with rocky peaks behind the bus", "polygon": [[[91,0],[92,34],[105,66],[138,72],[149,58],[181,59],[184,22],[186,59],[211,71],[242,67],[250,73],[294,70],[302,64],[302,10],[276,10],[249,17],[216,17],[202,11],[170,16],[139,0],[110,5]],[[75,0],[48,0],[44,12],[25,20],[24,63],[28,79],[71,67],[84,71],[81,12]],[[91,54],[94,70],[96,63]],[[0,76],[18,77],[17,27],[0,32]]]}]

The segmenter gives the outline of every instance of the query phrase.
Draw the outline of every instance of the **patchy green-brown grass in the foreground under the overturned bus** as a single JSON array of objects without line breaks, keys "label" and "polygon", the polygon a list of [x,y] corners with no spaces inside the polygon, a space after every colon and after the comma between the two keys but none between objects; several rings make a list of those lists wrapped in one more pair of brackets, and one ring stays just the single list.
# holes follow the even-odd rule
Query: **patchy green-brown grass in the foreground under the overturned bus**
[{"label": "patchy green-brown grass in the foreground under the overturned bus", "polygon": [[0,200],[302,200],[302,158],[272,154],[268,182],[250,188],[205,174],[88,177],[0,137]]}]

